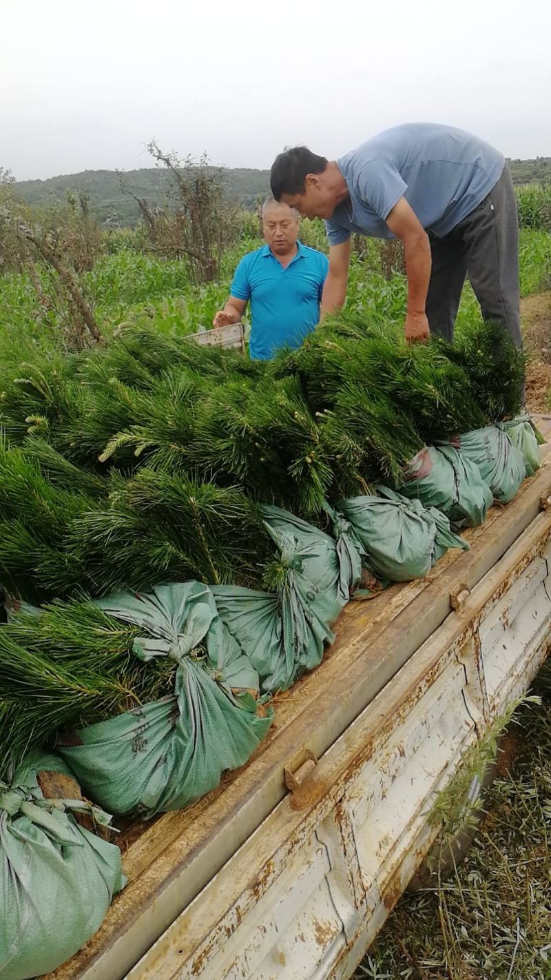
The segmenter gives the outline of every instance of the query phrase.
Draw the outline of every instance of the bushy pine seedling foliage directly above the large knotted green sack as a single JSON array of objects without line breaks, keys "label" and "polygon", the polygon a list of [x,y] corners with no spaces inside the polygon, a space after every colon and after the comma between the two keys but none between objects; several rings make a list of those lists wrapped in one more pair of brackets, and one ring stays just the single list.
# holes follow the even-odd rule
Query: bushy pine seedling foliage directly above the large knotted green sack
[{"label": "bushy pine seedling foliage directly above the large knotted green sack", "polygon": [[[82,515],[68,538],[68,554],[94,596],[189,579],[257,584],[255,565],[267,547],[241,491],[148,467],[120,480],[110,506]],[[58,581],[60,592],[62,585],[67,594],[70,583]]]}]

